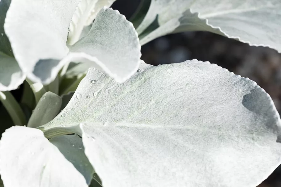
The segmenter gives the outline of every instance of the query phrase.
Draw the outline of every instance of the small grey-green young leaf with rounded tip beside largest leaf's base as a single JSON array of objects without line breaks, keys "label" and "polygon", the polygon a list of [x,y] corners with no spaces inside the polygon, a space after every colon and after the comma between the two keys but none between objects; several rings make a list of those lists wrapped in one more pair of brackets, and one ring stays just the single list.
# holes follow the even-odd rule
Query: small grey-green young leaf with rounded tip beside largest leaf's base
[{"label": "small grey-green young leaf with rounded tip beside largest leaf's base", "polygon": [[54,119],[60,112],[61,104],[60,96],[50,91],[46,92],[32,112],[27,127],[36,128]]}]

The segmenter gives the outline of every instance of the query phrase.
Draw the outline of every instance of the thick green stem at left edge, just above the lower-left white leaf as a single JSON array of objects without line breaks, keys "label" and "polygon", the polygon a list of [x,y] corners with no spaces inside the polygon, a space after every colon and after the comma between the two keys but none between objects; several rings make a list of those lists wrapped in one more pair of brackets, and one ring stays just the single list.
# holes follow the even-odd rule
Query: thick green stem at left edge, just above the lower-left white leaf
[{"label": "thick green stem at left edge, just above the lower-left white leaf", "polygon": [[15,125],[23,126],[27,124],[22,108],[10,91],[0,91],[0,100],[10,114]]}]

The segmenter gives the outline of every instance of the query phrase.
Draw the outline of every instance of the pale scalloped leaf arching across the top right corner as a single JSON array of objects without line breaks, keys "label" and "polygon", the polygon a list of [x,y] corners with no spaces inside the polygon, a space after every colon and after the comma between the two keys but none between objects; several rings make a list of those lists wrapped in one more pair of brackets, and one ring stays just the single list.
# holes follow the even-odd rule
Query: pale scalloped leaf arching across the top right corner
[{"label": "pale scalloped leaf arching across the top right corner", "polygon": [[151,23],[156,26],[150,34],[144,32],[144,35],[140,36],[142,45],[169,33],[202,30],[281,52],[280,9],[281,1],[270,0],[152,0],[150,9],[137,31],[142,33]]}]

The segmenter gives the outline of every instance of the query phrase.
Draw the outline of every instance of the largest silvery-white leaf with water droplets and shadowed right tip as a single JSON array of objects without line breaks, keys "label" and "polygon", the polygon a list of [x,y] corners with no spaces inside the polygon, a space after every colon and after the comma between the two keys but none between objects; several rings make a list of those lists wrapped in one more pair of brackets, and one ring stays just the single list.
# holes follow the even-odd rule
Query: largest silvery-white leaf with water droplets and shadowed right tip
[{"label": "largest silvery-white leaf with water droplets and shadowed right tip", "polygon": [[121,84],[90,68],[41,129],[50,136],[59,128],[82,136],[104,187],[255,187],[281,163],[281,120],[270,96],[197,60],[147,65]]}]

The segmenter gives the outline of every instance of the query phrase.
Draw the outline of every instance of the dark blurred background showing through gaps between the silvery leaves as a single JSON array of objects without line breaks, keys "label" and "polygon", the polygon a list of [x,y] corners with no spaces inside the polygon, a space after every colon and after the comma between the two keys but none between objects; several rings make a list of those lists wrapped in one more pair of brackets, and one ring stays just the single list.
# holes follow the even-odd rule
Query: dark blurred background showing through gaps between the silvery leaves
[{"label": "dark blurred background showing through gaps between the silvery leaves", "polygon": [[[129,19],[140,1],[118,0],[112,7]],[[281,54],[275,50],[249,46],[209,32],[184,32],[163,36],[145,44],[141,59],[152,65],[180,63],[191,59],[216,63],[235,74],[254,80],[269,93],[281,114]],[[12,91],[18,100],[22,92],[22,86]],[[4,109],[1,111],[4,111],[0,114],[1,119],[9,118]],[[5,124],[1,126],[9,128]],[[258,187],[281,187],[281,165]]]}]

